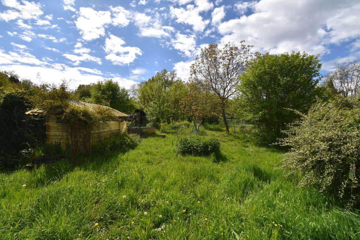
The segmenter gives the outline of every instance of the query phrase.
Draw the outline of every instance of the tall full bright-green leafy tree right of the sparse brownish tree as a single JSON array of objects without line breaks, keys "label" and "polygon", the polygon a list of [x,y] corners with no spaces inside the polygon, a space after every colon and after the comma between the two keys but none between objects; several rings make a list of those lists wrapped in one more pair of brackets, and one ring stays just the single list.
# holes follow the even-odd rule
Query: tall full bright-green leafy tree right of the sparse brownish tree
[{"label": "tall full bright-green leafy tree right of the sparse brownish tree", "polygon": [[324,96],[317,88],[320,68],[319,56],[259,54],[241,76],[237,117],[253,123],[262,142],[275,142],[287,124],[298,119],[288,109],[306,113],[317,95]]}]

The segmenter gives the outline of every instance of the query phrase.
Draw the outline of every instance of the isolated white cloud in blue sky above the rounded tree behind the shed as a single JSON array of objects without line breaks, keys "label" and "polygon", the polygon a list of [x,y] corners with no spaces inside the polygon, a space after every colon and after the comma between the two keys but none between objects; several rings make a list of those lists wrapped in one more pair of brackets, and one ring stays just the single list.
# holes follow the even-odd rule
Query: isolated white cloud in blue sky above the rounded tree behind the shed
[{"label": "isolated white cloud in blue sky above the rounded tree behind the shed", "polygon": [[141,56],[142,52],[138,47],[124,47],[122,46],[124,44],[124,40],[111,34],[105,40],[104,50],[108,54],[105,59],[111,61],[114,65],[126,65],[134,62],[136,55]]}]

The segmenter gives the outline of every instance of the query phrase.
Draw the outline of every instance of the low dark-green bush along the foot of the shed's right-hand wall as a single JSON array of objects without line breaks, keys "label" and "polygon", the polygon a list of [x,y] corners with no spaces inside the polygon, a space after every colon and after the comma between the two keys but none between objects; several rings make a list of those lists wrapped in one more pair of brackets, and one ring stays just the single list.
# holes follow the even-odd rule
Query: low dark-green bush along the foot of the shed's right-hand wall
[{"label": "low dark-green bush along the foot of the shed's right-hand wall", "polygon": [[94,144],[91,152],[94,154],[110,153],[112,151],[130,149],[140,142],[138,134],[119,133]]}]

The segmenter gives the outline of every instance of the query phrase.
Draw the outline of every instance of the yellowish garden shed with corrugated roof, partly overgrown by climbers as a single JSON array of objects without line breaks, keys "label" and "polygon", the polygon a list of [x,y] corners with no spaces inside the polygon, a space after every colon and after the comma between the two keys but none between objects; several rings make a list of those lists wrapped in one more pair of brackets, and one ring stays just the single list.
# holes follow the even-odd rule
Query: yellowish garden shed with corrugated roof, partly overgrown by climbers
[{"label": "yellowish garden shed with corrugated roof, partly overgrown by climbers", "polygon": [[[69,104],[73,107],[86,108],[87,110],[94,112],[98,108],[104,108],[110,110],[110,112],[116,116],[119,121],[104,122],[99,126],[96,126],[91,132],[90,143],[100,141],[102,139],[108,138],[114,133],[118,132],[127,132],[127,122],[124,119],[127,118],[127,114],[119,112],[108,106],[85,103],[83,101],[73,101],[70,100]],[[46,113],[39,109],[33,109],[26,114],[45,114]],[[62,147],[65,149],[66,146],[71,145],[71,137],[67,131],[66,124],[61,123],[61,119],[57,116],[46,115],[46,141],[48,143],[58,141],[61,143]]]}]

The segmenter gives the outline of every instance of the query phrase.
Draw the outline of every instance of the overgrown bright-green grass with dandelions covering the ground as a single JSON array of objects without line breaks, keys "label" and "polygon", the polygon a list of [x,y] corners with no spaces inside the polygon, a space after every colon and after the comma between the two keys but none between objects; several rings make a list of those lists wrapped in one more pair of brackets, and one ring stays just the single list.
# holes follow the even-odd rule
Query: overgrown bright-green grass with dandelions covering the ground
[{"label": "overgrown bright-green grass with dandelions covering the ground", "polygon": [[355,210],[274,169],[280,151],[205,129],[221,158],[176,155],[167,134],[82,164],[1,174],[0,238],[360,239]]}]

